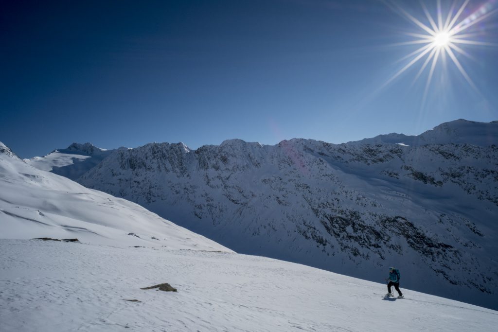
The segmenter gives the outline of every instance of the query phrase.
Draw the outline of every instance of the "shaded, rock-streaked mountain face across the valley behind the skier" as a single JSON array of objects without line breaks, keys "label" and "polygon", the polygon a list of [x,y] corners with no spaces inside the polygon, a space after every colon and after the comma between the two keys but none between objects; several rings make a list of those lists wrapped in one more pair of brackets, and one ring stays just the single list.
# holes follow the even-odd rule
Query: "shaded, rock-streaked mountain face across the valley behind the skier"
[{"label": "shaded, rock-streaked mountain face across the valley behind the skier", "polygon": [[372,281],[395,265],[402,286],[497,309],[497,161],[467,143],[151,143],[78,181],[238,252]]}]

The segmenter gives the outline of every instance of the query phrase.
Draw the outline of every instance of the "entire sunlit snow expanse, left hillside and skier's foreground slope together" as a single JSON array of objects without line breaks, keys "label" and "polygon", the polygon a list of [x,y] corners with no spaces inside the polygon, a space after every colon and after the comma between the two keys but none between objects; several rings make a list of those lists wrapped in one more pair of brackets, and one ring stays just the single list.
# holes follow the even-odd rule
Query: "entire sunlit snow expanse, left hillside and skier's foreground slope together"
[{"label": "entire sunlit snow expanse, left hillside and skier's foreground slope together", "polygon": [[[0,143],[0,331],[493,331],[498,312],[235,252]],[[132,233],[132,234],[129,234]],[[79,238],[80,242],[29,240]],[[178,292],[140,288],[169,283]],[[135,302],[125,300],[137,300]]]}]

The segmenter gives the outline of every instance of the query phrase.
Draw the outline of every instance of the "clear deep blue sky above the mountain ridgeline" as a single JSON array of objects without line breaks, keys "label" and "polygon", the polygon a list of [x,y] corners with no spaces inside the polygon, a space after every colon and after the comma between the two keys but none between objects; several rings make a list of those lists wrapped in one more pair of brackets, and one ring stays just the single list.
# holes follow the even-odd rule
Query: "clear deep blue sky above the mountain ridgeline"
[{"label": "clear deep blue sky above the mountain ridgeline", "polygon": [[[438,26],[437,1],[422,3]],[[0,141],[26,158],[73,141],[341,143],[497,120],[497,8],[463,7],[460,67],[447,51],[432,67],[432,47],[396,76],[423,51],[415,20],[432,27],[419,1],[2,1]]]}]

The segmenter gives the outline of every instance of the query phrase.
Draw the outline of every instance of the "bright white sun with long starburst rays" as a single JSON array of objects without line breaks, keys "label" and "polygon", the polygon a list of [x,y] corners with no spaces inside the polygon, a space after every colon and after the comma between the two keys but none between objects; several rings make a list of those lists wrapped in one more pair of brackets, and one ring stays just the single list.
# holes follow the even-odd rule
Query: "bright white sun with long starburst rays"
[{"label": "bright white sun with long starburst rays", "polygon": [[[429,91],[429,86],[434,74],[435,67],[438,62],[445,63],[449,57],[458,71],[462,74],[465,80],[475,89],[478,90],[470,76],[465,71],[463,65],[457,56],[462,55],[472,60],[475,60],[466,50],[473,45],[484,45],[484,46],[497,46],[492,43],[487,43],[483,41],[473,40],[473,37],[478,36],[478,33],[469,33],[470,27],[475,24],[482,22],[491,15],[498,12],[498,8],[493,8],[493,3],[495,1],[488,1],[481,5],[477,10],[473,11],[470,15],[462,17],[462,13],[465,11],[467,4],[470,0],[464,0],[462,5],[458,8],[456,7],[456,0],[453,1],[451,8],[448,12],[443,12],[441,8],[441,0],[436,1],[436,19],[433,18],[429,10],[427,9],[424,2],[420,2],[422,9],[425,13],[425,18],[415,18],[413,15],[408,13],[406,10],[401,8],[394,0],[386,0],[386,3],[391,9],[396,11],[401,16],[408,19],[411,23],[419,29],[416,32],[405,33],[410,36],[412,40],[397,43],[395,45],[422,45],[420,48],[414,52],[404,56],[401,60],[407,60],[408,63],[401,68],[396,74],[394,74],[384,86],[392,82],[396,77],[405,72],[408,68],[412,67],[418,62],[422,65],[414,79],[416,81],[421,74],[429,68],[429,74],[427,76],[427,82],[425,85],[425,93],[423,101],[427,96]],[[423,23],[422,21],[427,23]],[[415,39],[413,39],[415,38]],[[441,59],[441,60],[440,60]],[[423,102],[422,102],[423,103]]]}]

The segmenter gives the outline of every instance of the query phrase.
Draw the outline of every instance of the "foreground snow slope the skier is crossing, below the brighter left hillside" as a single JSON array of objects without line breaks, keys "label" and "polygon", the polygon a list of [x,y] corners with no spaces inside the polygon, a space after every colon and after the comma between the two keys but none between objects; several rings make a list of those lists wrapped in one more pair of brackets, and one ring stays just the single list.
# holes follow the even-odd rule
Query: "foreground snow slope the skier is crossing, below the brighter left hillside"
[{"label": "foreground snow slope the skier is crossing, below the brighter left hillside", "polygon": [[[496,331],[498,312],[235,253],[0,240],[0,331]],[[385,272],[385,271],[382,271]],[[178,292],[141,290],[169,283]],[[138,300],[130,302],[124,300]]]}]

